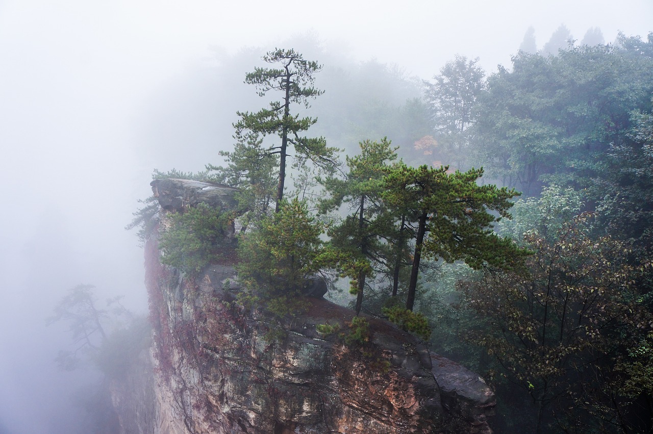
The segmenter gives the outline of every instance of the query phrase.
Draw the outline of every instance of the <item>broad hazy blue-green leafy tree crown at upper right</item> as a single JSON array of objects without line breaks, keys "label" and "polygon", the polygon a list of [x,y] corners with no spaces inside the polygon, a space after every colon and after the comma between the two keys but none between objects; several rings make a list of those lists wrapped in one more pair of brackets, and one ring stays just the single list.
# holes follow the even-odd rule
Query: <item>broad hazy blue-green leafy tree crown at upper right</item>
[{"label": "broad hazy blue-green leafy tree crown at upper right", "polygon": [[609,144],[630,128],[631,110],[648,106],[652,85],[653,59],[645,50],[520,52],[510,70],[488,78],[479,97],[475,157],[490,176],[527,196],[548,181],[591,187]]}]

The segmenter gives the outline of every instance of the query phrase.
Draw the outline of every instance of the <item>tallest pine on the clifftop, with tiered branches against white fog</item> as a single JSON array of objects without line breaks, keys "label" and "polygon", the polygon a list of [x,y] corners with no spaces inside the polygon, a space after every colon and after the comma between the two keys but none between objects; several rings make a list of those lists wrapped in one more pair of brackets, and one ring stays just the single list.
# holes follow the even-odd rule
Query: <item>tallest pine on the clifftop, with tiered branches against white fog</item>
[{"label": "tallest pine on the clifftop, with tiered branches against white fog", "polygon": [[[323,91],[313,87],[315,72],[321,65],[304,60],[294,50],[274,50],[263,56],[263,61],[276,68],[256,67],[246,75],[245,82],[253,84],[261,97],[269,91],[279,91],[280,101],[270,102],[269,108],[258,112],[237,112],[240,120],[234,123],[237,140],[233,151],[223,152],[229,165],[224,170],[225,179],[234,185],[260,188],[261,194],[269,194],[271,178],[277,179],[276,211],[279,211],[287,176],[289,147],[295,151],[295,166],[303,166],[310,160],[318,168],[330,171],[335,165],[338,149],[327,147],[323,137],[309,138],[302,134],[317,119],[291,114],[291,106],[300,104],[309,108],[309,100]],[[278,136],[276,144],[268,144],[267,136]],[[274,170],[278,169],[278,174]]]}]

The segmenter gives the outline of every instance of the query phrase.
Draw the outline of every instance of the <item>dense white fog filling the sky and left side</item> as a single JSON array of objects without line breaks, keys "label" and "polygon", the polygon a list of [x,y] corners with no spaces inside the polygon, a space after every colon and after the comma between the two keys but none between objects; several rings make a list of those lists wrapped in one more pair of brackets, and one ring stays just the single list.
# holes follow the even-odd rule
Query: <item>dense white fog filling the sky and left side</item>
[{"label": "dense white fog filling the sky and left side", "polygon": [[[402,104],[456,54],[492,72],[525,35],[537,50],[561,25],[611,42],[645,36],[653,18],[648,0],[309,4],[0,0],[0,434],[90,432],[84,403],[99,375],[57,368],[71,337],[46,318],[82,283],[99,303],[121,295],[146,312],[142,249],[124,226],[154,168],[221,163],[236,110],[264,104],[243,79],[267,50],[324,64],[315,132],[351,149],[368,137],[328,124],[343,92],[368,85]],[[392,74],[414,85],[375,84]]]}]

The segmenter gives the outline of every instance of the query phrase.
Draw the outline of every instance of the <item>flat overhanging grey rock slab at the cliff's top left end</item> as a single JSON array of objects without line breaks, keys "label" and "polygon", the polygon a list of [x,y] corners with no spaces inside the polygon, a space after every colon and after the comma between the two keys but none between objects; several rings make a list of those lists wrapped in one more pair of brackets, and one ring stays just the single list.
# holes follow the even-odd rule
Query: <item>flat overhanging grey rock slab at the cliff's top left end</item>
[{"label": "flat overhanging grey rock slab at the cliff's top left end", "polygon": [[166,211],[182,211],[204,203],[217,209],[234,209],[234,193],[238,189],[229,185],[214,184],[191,179],[154,179],[152,193]]}]

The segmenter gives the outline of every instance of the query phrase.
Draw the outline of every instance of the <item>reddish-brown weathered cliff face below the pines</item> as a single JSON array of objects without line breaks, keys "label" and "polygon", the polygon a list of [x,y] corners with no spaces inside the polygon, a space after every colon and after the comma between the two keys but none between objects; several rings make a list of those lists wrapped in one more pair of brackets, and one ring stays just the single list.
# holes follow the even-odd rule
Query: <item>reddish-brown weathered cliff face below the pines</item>
[{"label": "reddish-brown weathered cliff face below the pines", "polygon": [[[125,432],[491,432],[483,379],[392,324],[370,318],[370,342],[343,345],[316,326],[346,330],[351,309],[307,297],[304,313],[281,320],[236,302],[230,266],[185,279],[159,264],[155,239],[146,259],[154,375],[114,385],[114,403],[123,421],[149,421]],[[125,404],[134,394],[142,402]]]}]

